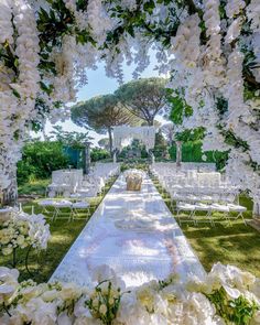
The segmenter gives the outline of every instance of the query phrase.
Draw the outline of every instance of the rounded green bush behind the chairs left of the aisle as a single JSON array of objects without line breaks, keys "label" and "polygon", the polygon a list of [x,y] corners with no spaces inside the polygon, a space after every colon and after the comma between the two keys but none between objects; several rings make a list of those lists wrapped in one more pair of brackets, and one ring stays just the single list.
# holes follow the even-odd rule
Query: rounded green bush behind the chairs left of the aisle
[{"label": "rounded green bush behind the chairs left of the aisle", "polygon": [[68,158],[59,142],[29,142],[24,145],[22,160],[18,163],[18,183],[23,184],[32,176],[47,178],[52,171],[65,169],[68,164]]}]

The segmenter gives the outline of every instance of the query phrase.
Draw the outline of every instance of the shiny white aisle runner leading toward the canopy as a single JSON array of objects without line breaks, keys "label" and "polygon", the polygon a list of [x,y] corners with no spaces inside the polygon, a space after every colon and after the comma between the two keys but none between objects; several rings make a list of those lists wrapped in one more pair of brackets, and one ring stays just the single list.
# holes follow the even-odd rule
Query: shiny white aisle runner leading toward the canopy
[{"label": "shiny white aisle runner leading toward the canopy", "polygon": [[189,274],[205,274],[148,176],[141,192],[127,192],[119,176],[50,281],[88,284],[101,264],[111,267],[127,286],[165,279],[171,272],[184,281]]}]

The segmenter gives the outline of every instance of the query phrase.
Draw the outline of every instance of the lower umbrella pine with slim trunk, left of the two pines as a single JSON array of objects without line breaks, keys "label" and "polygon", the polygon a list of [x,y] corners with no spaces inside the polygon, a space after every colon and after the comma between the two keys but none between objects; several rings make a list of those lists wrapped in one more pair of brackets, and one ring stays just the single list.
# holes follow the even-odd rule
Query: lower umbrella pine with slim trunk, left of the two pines
[{"label": "lower umbrella pine with slim trunk, left of the two pines", "polygon": [[72,120],[77,126],[94,129],[98,133],[108,132],[111,155],[112,127],[139,123],[139,119],[122,107],[115,95],[97,96],[75,105],[72,108]]}]

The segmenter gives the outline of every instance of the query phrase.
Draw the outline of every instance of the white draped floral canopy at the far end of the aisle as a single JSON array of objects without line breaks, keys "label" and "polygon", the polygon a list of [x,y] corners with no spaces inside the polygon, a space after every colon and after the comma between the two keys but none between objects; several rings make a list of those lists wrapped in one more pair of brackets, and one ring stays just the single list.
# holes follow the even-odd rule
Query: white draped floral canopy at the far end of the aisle
[{"label": "white draped floral canopy at the far end of the aisle", "polygon": [[113,127],[113,149],[121,151],[131,139],[142,141],[147,151],[149,151],[154,148],[155,128],[129,126]]}]

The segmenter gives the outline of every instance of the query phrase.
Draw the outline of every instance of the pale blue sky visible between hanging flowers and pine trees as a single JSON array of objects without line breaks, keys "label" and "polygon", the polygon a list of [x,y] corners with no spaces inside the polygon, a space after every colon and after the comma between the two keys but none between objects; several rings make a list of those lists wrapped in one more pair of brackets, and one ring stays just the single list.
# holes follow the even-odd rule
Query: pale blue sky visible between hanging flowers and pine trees
[{"label": "pale blue sky visible between hanging flowers and pine trees", "polygon": [[[150,57],[151,57],[151,64],[141,74],[142,78],[159,76],[158,72],[154,71],[156,65],[156,59],[153,53],[150,55]],[[134,69],[134,66],[132,65],[131,66],[128,66],[127,64],[123,65],[124,83],[130,82],[132,79],[133,69]],[[116,79],[108,78],[106,76],[104,63],[100,63],[96,71],[87,71],[87,76],[88,76],[88,84],[78,90],[77,101],[87,100],[98,95],[111,94],[119,87],[119,84]],[[160,120],[161,118],[159,117],[158,119]],[[85,128],[77,127],[72,120],[67,120],[63,123],[58,122],[57,124],[62,126],[65,131],[86,132]],[[47,121],[45,126],[45,130],[44,130],[45,134],[48,136],[52,130],[53,130],[53,126]],[[33,136],[42,137],[42,133],[36,133]],[[89,136],[94,138],[93,140],[94,145],[97,145],[97,142],[100,139],[106,138],[105,134],[97,134],[94,131],[90,131]]]}]

